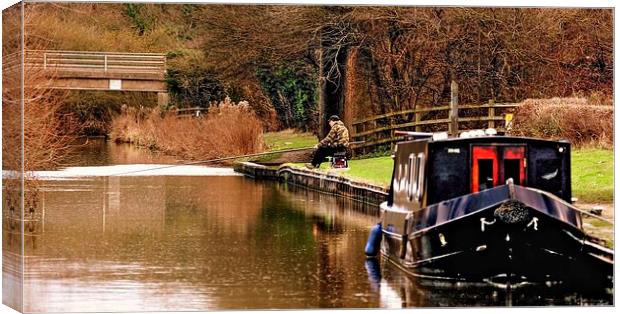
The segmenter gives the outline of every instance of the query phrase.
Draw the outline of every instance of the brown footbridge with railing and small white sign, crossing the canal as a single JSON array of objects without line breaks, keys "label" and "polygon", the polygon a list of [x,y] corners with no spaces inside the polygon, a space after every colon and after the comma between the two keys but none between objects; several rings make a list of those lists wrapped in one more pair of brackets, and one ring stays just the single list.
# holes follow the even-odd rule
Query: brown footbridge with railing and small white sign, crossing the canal
[{"label": "brown footbridge with railing and small white sign, crossing the canal", "polygon": [[48,88],[156,92],[168,103],[164,54],[26,50],[24,66],[45,70]]}]

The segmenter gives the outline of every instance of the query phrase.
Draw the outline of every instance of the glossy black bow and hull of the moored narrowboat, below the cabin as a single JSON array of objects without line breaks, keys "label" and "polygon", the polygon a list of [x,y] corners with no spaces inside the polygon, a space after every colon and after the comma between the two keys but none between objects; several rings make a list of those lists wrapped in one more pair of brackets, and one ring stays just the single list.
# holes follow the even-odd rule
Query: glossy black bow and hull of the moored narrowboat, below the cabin
[{"label": "glossy black bow and hull of the moored narrowboat, below the cabin", "polygon": [[[498,217],[507,202],[520,220]],[[455,198],[415,213],[382,205],[382,253],[415,276],[507,282],[612,284],[613,252],[587,241],[579,214],[545,192],[508,186]],[[503,219],[503,220],[502,220]],[[399,221],[404,221],[404,225]]]}]

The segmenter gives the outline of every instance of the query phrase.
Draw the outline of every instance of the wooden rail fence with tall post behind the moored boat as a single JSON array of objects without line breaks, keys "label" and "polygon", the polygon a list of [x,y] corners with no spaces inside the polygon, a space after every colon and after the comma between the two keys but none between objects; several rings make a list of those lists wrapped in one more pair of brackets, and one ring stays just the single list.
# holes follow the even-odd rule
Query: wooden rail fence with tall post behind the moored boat
[{"label": "wooden rail fence with tall post behind the moored boat", "polygon": [[351,141],[358,152],[369,153],[380,146],[393,145],[402,136],[396,131],[448,131],[458,136],[459,130],[495,128],[505,131],[505,114],[513,112],[516,103],[495,103],[490,100],[481,105],[459,105],[458,85],[452,82],[449,105],[409,109],[372,116],[352,123]]}]

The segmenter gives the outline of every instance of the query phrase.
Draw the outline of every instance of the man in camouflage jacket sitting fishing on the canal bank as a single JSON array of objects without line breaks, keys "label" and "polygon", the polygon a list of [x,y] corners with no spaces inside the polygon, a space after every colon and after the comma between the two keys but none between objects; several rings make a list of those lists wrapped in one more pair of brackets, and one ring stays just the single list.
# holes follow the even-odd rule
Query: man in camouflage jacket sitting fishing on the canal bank
[{"label": "man in camouflage jacket sitting fishing on the canal bank", "polygon": [[349,131],[340,118],[336,115],[329,117],[331,130],[323,140],[314,146],[314,157],[312,163],[306,164],[309,169],[318,168],[325,161],[325,157],[333,155],[335,152],[346,150],[349,147]]}]

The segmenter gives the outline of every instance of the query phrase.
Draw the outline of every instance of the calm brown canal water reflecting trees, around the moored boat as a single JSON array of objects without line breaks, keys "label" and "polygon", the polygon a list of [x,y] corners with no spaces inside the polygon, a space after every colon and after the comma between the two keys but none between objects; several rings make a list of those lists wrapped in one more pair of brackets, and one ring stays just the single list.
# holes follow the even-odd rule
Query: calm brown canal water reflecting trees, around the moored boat
[{"label": "calm brown canal water reflecting trees, around the moored boat", "polygon": [[[609,293],[557,287],[420,281],[385,260],[366,260],[374,205],[230,169],[162,169],[153,164],[175,161],[131,146],[95,141],[82,152],[74,168],[39,173],[37,218],[25,226],[24,311],[612,302]],[[8,224],[5,218],[5,263],[19,246]],[[15,288],[10,269],[5,293]]]}]

